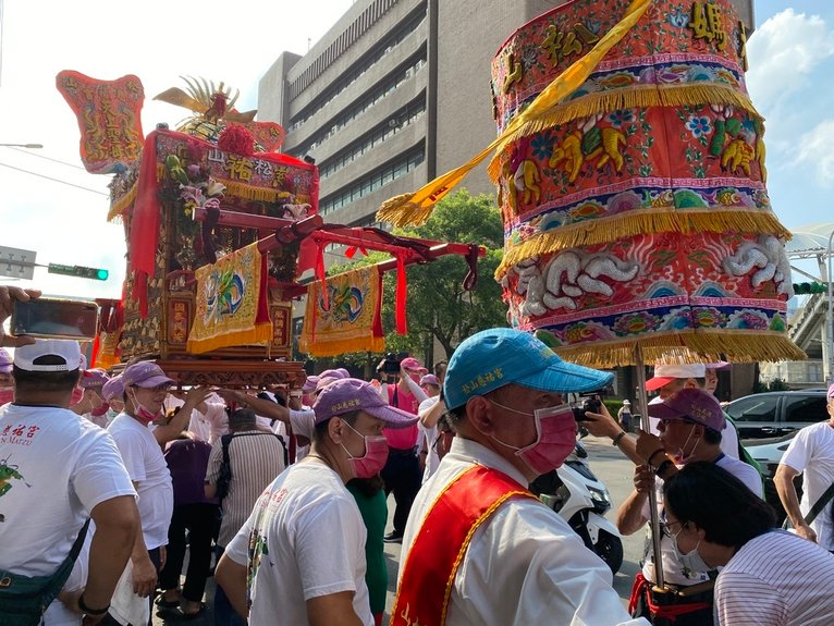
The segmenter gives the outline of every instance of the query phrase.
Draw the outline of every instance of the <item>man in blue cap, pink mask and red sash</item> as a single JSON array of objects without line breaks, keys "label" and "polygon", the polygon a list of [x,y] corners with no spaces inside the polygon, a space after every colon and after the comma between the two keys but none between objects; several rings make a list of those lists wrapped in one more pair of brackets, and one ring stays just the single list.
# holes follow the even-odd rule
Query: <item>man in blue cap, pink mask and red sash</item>
[{"label": "man in blue cap, pink mask and red sash", "polygon": [[443,385],[456,437],[408,517],[392,625],[648,624],[629,618],[608,566],[527,489],[574,450],[562,394],[612,377],[512,329],[457,347]]}]

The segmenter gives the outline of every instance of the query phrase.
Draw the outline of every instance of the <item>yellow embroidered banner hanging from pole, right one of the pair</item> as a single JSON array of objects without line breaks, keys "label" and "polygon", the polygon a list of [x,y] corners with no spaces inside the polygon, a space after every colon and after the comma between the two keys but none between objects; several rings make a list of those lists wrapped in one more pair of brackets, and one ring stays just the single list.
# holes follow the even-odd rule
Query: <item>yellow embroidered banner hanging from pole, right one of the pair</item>
[{"label": "yellow embroidered banner hanging from pole, right one of the pair", "polygon": [[376,266],[310,283],[298,348],[312,356],[384,352],[381,306],[382,274]]}]

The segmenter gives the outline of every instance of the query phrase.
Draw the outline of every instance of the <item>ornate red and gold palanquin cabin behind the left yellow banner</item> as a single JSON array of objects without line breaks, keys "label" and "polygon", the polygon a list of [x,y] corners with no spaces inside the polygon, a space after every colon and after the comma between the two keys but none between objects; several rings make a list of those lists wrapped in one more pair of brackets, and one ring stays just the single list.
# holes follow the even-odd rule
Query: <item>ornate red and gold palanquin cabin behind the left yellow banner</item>
[{"label": "ornate red and gold palanquin cabin behind the left yellow banner", "polygon": [[[237,213],[285,218],[292,211],[316,212],[318,176],[315,165],[286,155],[243,156],[174,131],[156,131],[145,142],[144,161],[132,185],[114,181],[111,217],[121,217],[128,242],[131,272],[125,293],[121,351],[123,358],[188,352],[187,340],[196,307],[207,300],[222,306],[220,283],[195,302],[195,270],[235,250],[256,244],[269,232],[196,221],[195,213],[222,209]],[[149,158],[150,157],[150,158]],[[299,208],[301,207],[301,208]],[[265,250],[266,285],[273,331],[265,345],[218,348],[212,356],[287,357],[291,351],[290,298],[282,286],[295,280],[298,242]],[[252,268],[233,272],[230,306],[243,299],[243,283]],[[258,274],[259,277],[260,274]],[[210,293],[218,289],[219,293]]]}]

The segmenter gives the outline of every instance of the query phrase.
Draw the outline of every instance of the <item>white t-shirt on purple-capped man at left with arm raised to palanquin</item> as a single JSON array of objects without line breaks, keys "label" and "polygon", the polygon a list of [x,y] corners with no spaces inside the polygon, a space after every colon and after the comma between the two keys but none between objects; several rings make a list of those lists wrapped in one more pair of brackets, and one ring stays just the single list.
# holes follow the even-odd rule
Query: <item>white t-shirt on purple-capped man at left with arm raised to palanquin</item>
[{"label": "white t-shirt on purple-capped man at left with arm raised to palanquin", "polygon": [[145,545],[168,544],[168,526],[174,512],[174,489],[162,449],[151,430],[126,413],[112,421],[108,432],[115,441],[127,475],[139,493],[139,520]]}]

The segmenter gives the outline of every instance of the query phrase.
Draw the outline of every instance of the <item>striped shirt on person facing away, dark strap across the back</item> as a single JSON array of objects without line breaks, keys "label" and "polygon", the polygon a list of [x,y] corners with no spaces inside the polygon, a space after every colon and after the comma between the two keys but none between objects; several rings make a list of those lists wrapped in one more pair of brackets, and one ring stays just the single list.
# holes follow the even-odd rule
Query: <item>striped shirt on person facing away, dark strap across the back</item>
[{"label": "striped shirt on person facing away, dark strap across the back", "polygon": [[[241,437],[243,435],[243,437]],[[223,445],[218,439],[211,447],[206,482],[217,484]],[[223,519],[220,523],[218,545],[225,547],[249,517],[263,490],[284,470],[284,447],[272,433],[245,430],[235,433],[229,442],[229,463],[232,480],[223,499]]]}]

